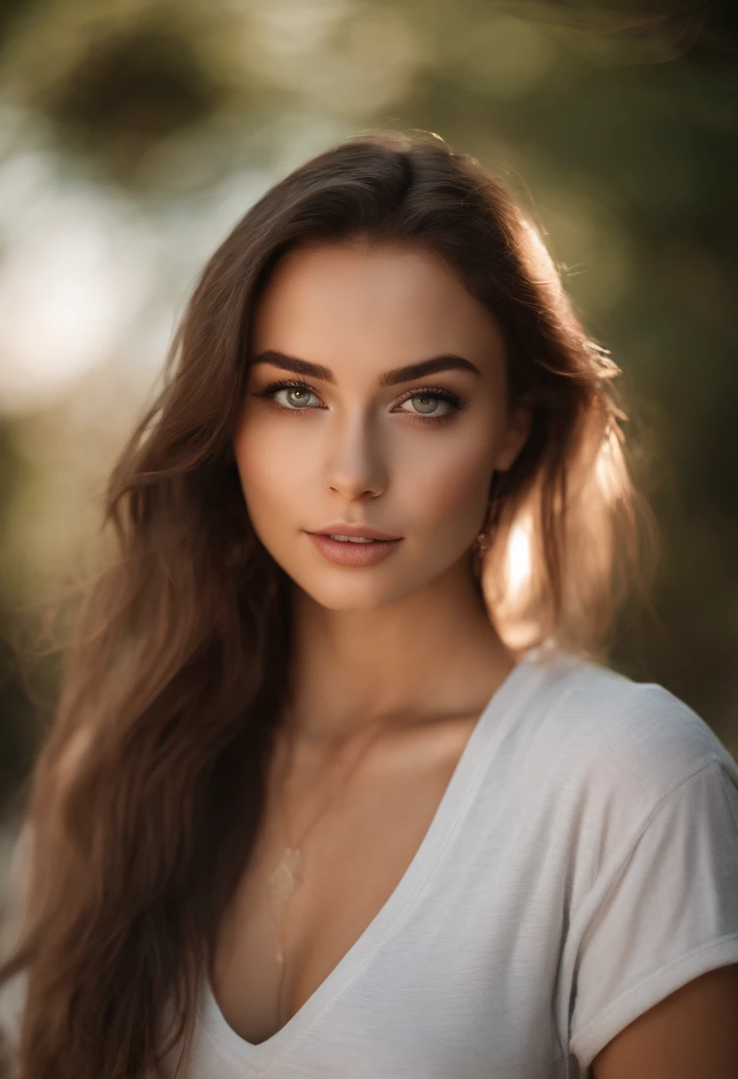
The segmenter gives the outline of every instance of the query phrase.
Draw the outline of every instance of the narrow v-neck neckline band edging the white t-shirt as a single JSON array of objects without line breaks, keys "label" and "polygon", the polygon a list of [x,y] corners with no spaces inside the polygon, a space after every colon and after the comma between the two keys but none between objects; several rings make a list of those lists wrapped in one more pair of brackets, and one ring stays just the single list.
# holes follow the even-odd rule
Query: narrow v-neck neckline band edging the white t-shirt
[{"label": "narrow v-neck neckline band edging the white t-shirt", "polygon": [[199,1015],[218,1046],[234,1056],[240,1064],[248,1067],[252,1074],[263,1073],[295,1044],[341,991],[357,976],[390,937],[395,926],[405,917],[425,886],[475,793],[482,774],[484,754],[480,751],[486,745],[488,732],[494,725],[494,721],[504,715],[518,689],[530,681],[527,680],[527,675],[531,673],[531,668],[536,666],[535,657],[538,652],[538,647],[533,647],[524,653],[487,702],[466,740],[430,824],[394,890],[360,937],[284,1026],[258,1043],[242,1038],[228,1023],[215,997],[209,978],[207,974],[204,975],[197,1006]]}]

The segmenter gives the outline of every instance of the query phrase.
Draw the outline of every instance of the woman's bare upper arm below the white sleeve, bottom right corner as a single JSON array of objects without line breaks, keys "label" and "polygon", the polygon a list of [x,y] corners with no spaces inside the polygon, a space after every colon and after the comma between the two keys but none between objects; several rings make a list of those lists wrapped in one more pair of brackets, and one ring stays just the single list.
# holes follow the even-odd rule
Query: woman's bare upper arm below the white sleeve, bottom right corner
[{"label": "woman's bare upper arm below the white sleeve, bottom right corner", "polygon": [[639,1015],[592,1061],[594,1079],[735,1079],[738,964],[719,967]]}]

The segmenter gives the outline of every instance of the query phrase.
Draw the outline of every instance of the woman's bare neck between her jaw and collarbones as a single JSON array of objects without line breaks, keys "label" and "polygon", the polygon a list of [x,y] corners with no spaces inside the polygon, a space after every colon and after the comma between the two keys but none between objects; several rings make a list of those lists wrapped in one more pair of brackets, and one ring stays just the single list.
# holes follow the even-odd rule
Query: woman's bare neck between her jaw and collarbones
[{"label": "woman's bare neck between her jaw and collarbones", "polygon": [[374,610],[329,610],[302,590],[293,602],[289,725],[314,742],[469,714],[515,666],[466,564]]}]

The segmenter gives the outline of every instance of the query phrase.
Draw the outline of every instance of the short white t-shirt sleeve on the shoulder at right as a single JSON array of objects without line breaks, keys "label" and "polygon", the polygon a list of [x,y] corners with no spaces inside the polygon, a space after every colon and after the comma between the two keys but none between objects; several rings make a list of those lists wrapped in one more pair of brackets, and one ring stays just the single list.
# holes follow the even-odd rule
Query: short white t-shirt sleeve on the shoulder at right
[{"label": "short white t-shirt sleeve on the shoulder at right", "polygon": [[570,1049],[580,1074],[643,1012],[738,962],[738,788],[716,755],[651,811],[573,928]]}]

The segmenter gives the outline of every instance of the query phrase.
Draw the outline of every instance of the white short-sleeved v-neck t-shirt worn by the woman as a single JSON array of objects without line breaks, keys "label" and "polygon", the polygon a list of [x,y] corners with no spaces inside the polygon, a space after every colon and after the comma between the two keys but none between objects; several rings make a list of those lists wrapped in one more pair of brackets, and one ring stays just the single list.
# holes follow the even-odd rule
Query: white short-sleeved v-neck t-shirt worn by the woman
[{"label": "white short-sleeved v-neck t-shirt worn by the woman", "polygon": [[181,1079],[584,1079],[638,1015],[738,962],[738,765],[656,684],[532,650],[423,842],[273,1037],[203,985]]}]

